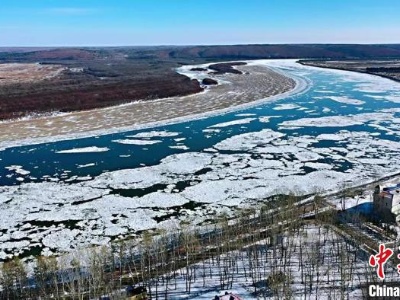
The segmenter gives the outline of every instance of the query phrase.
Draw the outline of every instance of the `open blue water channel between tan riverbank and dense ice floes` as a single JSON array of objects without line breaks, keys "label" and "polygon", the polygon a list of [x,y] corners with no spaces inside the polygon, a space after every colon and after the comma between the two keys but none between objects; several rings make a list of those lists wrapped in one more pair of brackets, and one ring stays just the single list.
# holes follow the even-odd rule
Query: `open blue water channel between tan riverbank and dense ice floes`
[{"label": "open blue water channel between tan riverbank and dense ice floes", "polygon": [[[307,80],[312,83],[310,88],[303,94],[289,96],[275,102],[266,101],[264,104],[252,108],[199,120],[158,126],[151,129],[133,130],[89,138],[8,148],[0,151],[0,185],[17,185],[21,184],[22,180],[23,182],[42,182],[49,180],[48,178],[58,179],[60,181],[71,181],[70,179],[73,178],[73,176],[89,175],[95,177],[107,171],[131,169],[142,165],[155,165],[159,163],[161,159],[171,154],[201,152],[231,136],[260,131],[265,128],[285,133],[286,139],[290,139],[290,137],[293,136],[318,136],[322,133],[337,133],[339,130],[348,130],[379,133],[379,139],[400,141],[400,135],[393,133],[388,134],[387,130],[371,127],[369,126],[370,122],[347,127],[312,126],[297,129],[281,128],[279,124],[283,121],[326,116],[348,116],[379,112],[382,109],[392,110],[400,108],[400,103],[379,98],[390,96],[393,95],[393,93],[398,92],[400,90],[400,85],[397,91],[393,89],[390,91],[362,91],[362,88],[359,86],[359,80],[349,80],[348,76],[344,76],[338,72],[329,72],[318,69],[307,69],[305,71],[304,68],[282,69],[293,75],[306,77]],[[362,79],[360,80],[362,82]],[[321,90],[324,90],[325,92],[321,93]],[[362,105],[340,103],[328,98],[331,96],[347,96],[351,99],[364,101],[364,103]],[[284,104],[295,104],[298,107],[293,109],[276,110],[277,107],[279,108]],[[249,114],[249,116],[237,116],[238,114]],[[270,118],[267,123],[261,122],[258,119],[259,117],[266,116],[273,117]],[[400,114],[395,113],[394,117],[400,117]],[[244,118],[256,119],[252,120],[248,124],[218,128],[220,129],[219,132],[210,133],[203,131],[205,129],[210,129],[209,127],[215,124]],[[179,135],[173,137],[153,137],[150,140],[158,140],[161,142],[152,145],[125,145],[113,142],[113,140],[127,139],[127,136],[153,130],[177,132]],[[182,138],[185,138],[185,140],[180,142],[175,140]],[[182,150],[170,148],[170,146],[176,146],[178,143],[182,143],[188,149]],[[56,153],[61,150],[92,146],[107,147],[110,150],[98,153]],[[312,146],[334,147],[339,146],[339,142],[323,140],[320,142],[317,141]],[[343,147],[343,143],[340,144],[340,146]],[[278,159],[279,155],[276,158]],[[326,157],[319,162],[330,163],[330,160],[331,158]],[[88,164],[94,165],[82,167]],[[15,170],[6,169],[6,167],[11,165],[22,166],[24,170],[29,171],[30,173],[27,175],[21,175],[16,173]],[[342,163],[336,162],[336,165],[338,165],[340,171],[346,171],[346,169],[351,168],[351,164],[346,161]]]}]

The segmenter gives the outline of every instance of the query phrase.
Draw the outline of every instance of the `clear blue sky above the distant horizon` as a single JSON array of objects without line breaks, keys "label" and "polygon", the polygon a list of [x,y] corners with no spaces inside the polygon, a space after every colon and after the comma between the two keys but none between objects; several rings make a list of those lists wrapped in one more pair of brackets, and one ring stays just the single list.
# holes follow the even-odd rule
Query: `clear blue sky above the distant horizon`
[{"label": "clear blue sky above the distant horizon", "polygon": [[399,0],[0,0],[0,46],[400,43]]}]

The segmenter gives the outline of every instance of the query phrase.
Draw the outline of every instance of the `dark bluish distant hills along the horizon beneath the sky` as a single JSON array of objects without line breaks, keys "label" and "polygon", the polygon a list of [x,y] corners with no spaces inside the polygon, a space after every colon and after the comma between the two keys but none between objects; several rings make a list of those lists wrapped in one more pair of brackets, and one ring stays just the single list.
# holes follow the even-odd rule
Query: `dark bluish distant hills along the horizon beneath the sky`
[{"label": "dark bluish distant hills along the horizon beneath the sky", "polygon": [[260,58],[400,58],[400,44],[267,44],[163,47],[0,48],[0,62],[110,59],[239,60]]}]

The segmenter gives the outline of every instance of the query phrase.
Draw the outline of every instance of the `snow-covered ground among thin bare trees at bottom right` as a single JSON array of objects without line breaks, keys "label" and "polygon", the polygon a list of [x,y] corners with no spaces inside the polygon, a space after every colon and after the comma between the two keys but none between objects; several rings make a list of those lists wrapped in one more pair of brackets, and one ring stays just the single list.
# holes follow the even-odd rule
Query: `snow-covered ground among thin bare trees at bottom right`
[{"label": "snow-covered ground among thin bare trees at bottom right", "polygon": [[[374,282],[376,271],[330,227],[308,225],[280,238],[276,244],[262,240],[153,279],[152,299],[157,299],[156,286],[158,296],[167,292],[168,299],[214,299],[225,292],[246,300],[366,299],[368,291],[361,286]],[[386,284],[397,282],[394,268],[385,271]],[[280,280],[273,284],[274,275]]]}]

